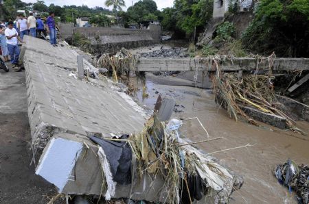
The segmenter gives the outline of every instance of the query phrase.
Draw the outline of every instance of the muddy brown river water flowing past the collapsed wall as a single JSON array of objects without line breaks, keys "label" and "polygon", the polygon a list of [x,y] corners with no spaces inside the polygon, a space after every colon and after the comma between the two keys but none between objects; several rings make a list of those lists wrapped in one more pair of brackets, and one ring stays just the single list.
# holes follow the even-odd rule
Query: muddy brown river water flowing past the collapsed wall
[{"label": "muddy brown river water flowing past the collapsed wall", "polygon": [[[241,120],[233,120],[214,102],[211,90],[172,86],[173,80],[170,81],[170,85],[163,85],[160,84],[159,77],[150,74],[147,78],[149,97],[143,100],[141,92],[138,92],[137,98],[141,103],[153,109],[159,94],[172,98],[179,105],[177,108],[183,111],[174,112],[172,117],[198,117],[211,138],[224,137],[221,140],[196,144],[199,148],[211,153],[246,144],[254,145],[214,153],[214,157],[222,164],[244,177],[244,185],[240,190],[233,192],[231,203],[297,203],[295,194],[290,194],[287,188],[277,182],[273,169],[289,158],[297,164],[308,164],[309,136],[282,131],[265,124],[262,124],[264,127],[255,127]],[[178,79],[175,78],[174,81]],[[297,125],[306,133],[309,132],[309,123],[303,121]],[[194,142],[205,140],[205,131],[196,120],[185,122],[181,134]]]}]

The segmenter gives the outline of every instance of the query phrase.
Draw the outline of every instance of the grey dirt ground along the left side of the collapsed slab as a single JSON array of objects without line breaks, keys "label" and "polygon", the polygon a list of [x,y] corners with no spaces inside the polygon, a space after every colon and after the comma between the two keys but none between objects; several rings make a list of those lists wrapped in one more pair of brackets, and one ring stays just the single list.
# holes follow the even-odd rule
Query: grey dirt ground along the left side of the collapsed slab
[{"label": "grey dirt ground along the left side of the collapsed slab", "polygon": [[47,203],[54,186],[30,166],[25,72],[0,70],[0,203]]}]

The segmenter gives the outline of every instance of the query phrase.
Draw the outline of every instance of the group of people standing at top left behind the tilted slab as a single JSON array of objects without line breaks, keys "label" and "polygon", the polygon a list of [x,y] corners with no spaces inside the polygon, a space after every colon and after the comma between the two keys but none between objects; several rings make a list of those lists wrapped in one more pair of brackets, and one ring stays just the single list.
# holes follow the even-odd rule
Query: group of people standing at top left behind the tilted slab
[{"label": "group of people standing at top left behind the tilted slab", "polygon": [[[56,23],[54,20],[54,12],[49,12],[49,16],[46,18],[45,23],[40,16],[35,18],[32,13],[25,18],[23,14],[20,14],[16,21],[9,19],[8,22],[0,23],[0,46],[2,56],[5,62],[11,62],[14,66],[19,66],[19,42],[22,44],[23,37],[30,35],[32,37],[41,36],[46,31],[49,33],[49,38],[52,46],[57,46],[56,40]],[[46,31],[45,31],[46,27]]]}]

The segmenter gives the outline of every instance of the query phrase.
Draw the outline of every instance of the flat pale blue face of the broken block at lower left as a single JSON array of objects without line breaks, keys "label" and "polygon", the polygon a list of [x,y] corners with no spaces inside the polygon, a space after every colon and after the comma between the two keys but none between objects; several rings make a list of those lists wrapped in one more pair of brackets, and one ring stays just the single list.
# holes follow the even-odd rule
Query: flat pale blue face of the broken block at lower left
[{"label": "flat pale blue face of the broken block at lower left", "polygon": [[82,151],[82,143],[52,138],[47,148],[36,175],[54,183],[58,192],[62,192]]}]

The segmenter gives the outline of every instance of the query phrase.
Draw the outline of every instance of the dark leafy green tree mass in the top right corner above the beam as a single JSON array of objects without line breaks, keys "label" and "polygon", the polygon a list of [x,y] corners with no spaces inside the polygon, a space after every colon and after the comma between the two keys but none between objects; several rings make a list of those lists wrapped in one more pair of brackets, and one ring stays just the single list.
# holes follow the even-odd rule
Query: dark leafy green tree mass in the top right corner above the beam
[{"label": "dark leafy green tree mass in the top right corner above the beam", "polygon": [[261,0],[242,42],[259,53],[309,57],[309,0]]}]

